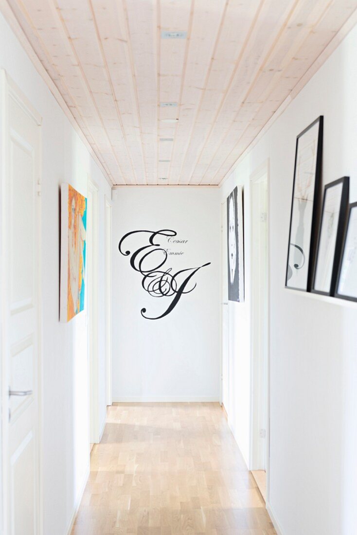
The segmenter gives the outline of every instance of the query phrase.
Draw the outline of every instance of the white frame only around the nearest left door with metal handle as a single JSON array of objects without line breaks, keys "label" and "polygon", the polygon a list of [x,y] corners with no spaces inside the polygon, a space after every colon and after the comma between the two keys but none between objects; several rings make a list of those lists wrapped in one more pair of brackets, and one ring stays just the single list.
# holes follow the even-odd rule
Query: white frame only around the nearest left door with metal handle
[{"label": "white frame only around the nearest left door with metal handle", "polygon": [[[5,325],[5,296],[1,281],[6,280],[7,256],[4,253],[5,233],[7,224],[5,220],[4,205],[7,201],[5,178],[7,173],[7,150],[9,131],[9,95],[21,106],[21,108],[32,118],[34,123],[40,127],[40,154],[39,154],[39,176],[37,177],[37,243],[38,243],[38,270],[37,270],[37,315],[38,315],[38,354],[37,354],[37,406],[38,406],[38,492],[39,503],[37,515],[39,518],[39,535],[43,533],[43,481],[42,481],[42,292],[41,292],[41,265],[42,265],[42,235],[41,235],[41,178],[42,178],[42,117],[34,109],[31,102],[17,87],[16,83],[7,75],[6,71],[0,70],[0,530],[4,535],[9,530],[9,518],[7,518],[7,491],[9,488],[9,478],[7,473],[7,457],[9,437],[9,370],[7,366],[7,355],[5,354],[6,325]],[[2,521],[1,521],[2,519]]]}]

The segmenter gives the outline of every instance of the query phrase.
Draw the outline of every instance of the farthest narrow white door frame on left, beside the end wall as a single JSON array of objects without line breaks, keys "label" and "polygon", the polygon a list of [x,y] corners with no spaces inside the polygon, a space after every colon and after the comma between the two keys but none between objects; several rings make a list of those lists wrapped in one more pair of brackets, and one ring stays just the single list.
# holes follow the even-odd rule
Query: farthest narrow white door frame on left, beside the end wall
[{"label": "farthest narrow white door frame on left, beside the end wall", "polygon": [[105,403],[111,405],[111,202],[105,196]]}]

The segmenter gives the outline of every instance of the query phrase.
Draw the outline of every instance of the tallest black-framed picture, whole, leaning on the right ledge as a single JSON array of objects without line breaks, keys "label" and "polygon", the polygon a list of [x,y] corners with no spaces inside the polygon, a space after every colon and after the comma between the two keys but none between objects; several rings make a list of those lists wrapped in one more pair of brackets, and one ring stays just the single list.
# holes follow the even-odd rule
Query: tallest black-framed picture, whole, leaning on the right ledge
[{"label": "tallest black-framed picture, whole, leaning on the right ledge", "polygon": [[297,137],[285,286],[309,292],[312,286],[321,196],[323,117]]}]

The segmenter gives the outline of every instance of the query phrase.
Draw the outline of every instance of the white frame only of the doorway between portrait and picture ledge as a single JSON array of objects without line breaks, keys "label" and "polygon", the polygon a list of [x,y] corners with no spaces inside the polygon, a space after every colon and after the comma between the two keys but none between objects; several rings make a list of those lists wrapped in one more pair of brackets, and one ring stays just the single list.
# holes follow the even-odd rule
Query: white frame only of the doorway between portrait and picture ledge
[{"label": "white frame only of the doorway between portrait and picture ledge", "polygon": [[[263,177],[267,177],[267,354],[265,357],[265,469],[267,472],[267,501],[269,501],[269,456],[270,456],[270,222],[269,222],[269,159],[265,161],[258,169],[250,175],[249,187],[250,187],[250,250],[253,250],[253,195],[252,195],[252,185],[259,182]],[[251,266],[251,272],[253,266]],[[255,300],[253,292],[253,277],[250,277],[250,295],[252,296],[252,302],[250,307],[250,325],[251,325],[251,337],[250,337],[250,469],[257,469],[255,463],[256,458],[253,454],[253,445],[256,440],[256,430],[254,429],[254,406],[256,397],[259,395],[259,389],[256,388],[254,384],[255,376],[255,362],[254,362],[254,311],[255,311]]]}]

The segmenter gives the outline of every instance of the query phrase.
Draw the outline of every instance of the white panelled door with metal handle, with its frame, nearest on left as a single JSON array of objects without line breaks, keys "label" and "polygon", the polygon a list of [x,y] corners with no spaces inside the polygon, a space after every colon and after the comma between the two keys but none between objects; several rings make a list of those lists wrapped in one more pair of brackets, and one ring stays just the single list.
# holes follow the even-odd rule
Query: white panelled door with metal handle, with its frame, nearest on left
[{"label": "white panelled door with metal handle, with its frame, nearest on left", "polygon": [[6,535],[39,514],[40,119],[2,75],[2,401]]}]

